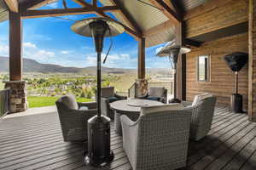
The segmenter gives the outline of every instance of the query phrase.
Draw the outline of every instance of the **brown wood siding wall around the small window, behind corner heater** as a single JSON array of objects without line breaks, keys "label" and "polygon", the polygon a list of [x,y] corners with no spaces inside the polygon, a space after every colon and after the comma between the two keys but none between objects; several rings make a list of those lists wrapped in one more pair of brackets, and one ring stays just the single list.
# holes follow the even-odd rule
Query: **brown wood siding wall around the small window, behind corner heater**
[{"label": "brown wood siding wall around the small window, behind corner heater", "polygon": [[[193,101],[196,94],[211,93],[218,98],[218,103],[230,104],[230,94],[235,90],[235,74],[224,62],[224,55],[236,51],[248,53],[248,35],[239,34],[204,43],[201,48],[192,48],[187,54],[187,100]],[[197,82],[196,61],[198,55],[210,54],[210,82]],[[239,93],[243,95],[244,109],[247,110],[248,90],[247,65],[239,72]]]}]

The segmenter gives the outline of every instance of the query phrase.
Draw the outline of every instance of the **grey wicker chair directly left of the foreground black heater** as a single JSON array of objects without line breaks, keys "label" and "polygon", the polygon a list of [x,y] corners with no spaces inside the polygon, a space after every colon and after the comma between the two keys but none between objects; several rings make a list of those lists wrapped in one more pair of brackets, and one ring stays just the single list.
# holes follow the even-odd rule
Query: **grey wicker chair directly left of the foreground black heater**
[{"label": "grey wicker chair directly left of the foreground black heater", "polygon": [[96,102],[77,103],[72,95],[63,96],[56,102],[64,141],[87,140],[87,121],[96,115]]}]

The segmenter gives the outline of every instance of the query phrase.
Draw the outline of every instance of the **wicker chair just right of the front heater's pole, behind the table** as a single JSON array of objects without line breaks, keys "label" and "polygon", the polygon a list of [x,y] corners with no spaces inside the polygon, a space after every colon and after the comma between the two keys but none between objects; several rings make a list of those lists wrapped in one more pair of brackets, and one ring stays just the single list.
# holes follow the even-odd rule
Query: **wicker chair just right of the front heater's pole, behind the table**
[{"label": "wicker chair just right of the front heater's pole, behind the table", "polygon": [[102,88],[102,102],[101,109],[102,115],[108,116],[109,118],[114,118],[114,111],[110,108],[109,103],[120,99],[127,99],[125,96],[120,96],[114,93],[113,87]]}]

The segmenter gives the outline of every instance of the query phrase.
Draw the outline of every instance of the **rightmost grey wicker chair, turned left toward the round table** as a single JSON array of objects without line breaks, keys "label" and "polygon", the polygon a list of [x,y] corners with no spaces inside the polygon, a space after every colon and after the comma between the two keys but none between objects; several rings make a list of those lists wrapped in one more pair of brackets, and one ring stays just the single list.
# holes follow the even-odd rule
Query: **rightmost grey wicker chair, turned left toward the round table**
[{"label": "rightmost grey wicker chair, turned left toward the round table", "polygon": [[193,103],[182,101],[183,105],[192,107],[189,138],[198,141],[206,137],[211,129],[216,97],[207,97]]}]

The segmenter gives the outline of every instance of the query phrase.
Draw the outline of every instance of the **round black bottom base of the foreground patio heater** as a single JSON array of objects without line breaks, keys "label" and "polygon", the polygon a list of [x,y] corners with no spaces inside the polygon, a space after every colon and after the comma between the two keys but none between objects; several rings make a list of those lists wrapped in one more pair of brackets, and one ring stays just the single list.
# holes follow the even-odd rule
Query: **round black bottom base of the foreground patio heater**
[{"label": "round black bottom base of the foreground patio heater", "polygon": [[111,161],[113,161],[113,151],[111,151],[110,155],[108,157],[90,157],[89,155],[86,155],[84,157],[84,163],[86,166],[91,167],[104,167],[108,166]]}]

